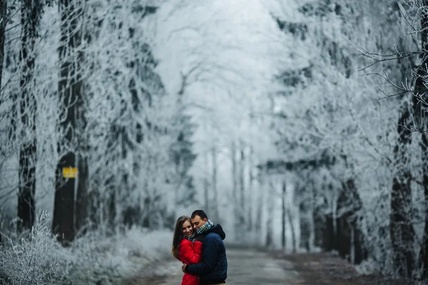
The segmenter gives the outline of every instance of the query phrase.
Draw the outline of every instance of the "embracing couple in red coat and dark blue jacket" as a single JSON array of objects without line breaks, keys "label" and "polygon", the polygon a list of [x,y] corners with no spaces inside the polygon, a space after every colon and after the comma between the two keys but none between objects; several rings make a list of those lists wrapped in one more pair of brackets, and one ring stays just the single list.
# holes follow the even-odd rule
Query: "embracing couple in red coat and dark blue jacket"
[{"label": "embracing couple in red coat and dark blue jacket", "polygon": [[201,209],[175,224],[173,256],[183,262],[181,285],[225,284],[228,260],[220,224],[213,224]]}]

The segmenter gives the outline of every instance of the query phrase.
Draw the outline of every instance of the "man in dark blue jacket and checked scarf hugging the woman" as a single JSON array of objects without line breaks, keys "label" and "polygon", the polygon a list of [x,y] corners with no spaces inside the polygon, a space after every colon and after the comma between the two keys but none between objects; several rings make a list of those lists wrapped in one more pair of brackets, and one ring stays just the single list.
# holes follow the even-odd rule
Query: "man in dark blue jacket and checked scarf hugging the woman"
[{"label": "man in dark blue jacket and checked scarf hugging the woman", "polygon": [[226,234],[220,224],[214,225],[201,209],[190,217],[196,239],[202,242],[202,261],[198,264],[183,264],[183,272],[199,276],[200,285],[225,284],[228,277],[228,259],[223,239]]}]

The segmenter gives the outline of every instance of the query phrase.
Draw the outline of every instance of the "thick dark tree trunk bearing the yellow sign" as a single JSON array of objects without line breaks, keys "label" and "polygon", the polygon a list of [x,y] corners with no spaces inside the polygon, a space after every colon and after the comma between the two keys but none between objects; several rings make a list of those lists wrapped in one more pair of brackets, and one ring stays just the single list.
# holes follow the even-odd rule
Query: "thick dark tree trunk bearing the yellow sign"
[{"label": "thick dark tree trunk bearing the yellow sign", "polygon": [[76,102],[81,100],[82,96],[81,60],[83,54],[82,51],[77,51],[81,45],[80,25],[83,13],[81,4],[80,0],[60,0],[58,4],[61,15],[61,37],[58,48],[61,71],[58,94],[61,112],[60,131],[65,135],[58,142],[58,152],[61,156],[56,167],[52,232],[58,234],[58,240],[63,245],[72,242],[75,235],[74,191],[76,175],[66,175],[66,170],[77,167],[74,148],[78,138],[75,138],[74,130],[76,130],[78,118]]}]

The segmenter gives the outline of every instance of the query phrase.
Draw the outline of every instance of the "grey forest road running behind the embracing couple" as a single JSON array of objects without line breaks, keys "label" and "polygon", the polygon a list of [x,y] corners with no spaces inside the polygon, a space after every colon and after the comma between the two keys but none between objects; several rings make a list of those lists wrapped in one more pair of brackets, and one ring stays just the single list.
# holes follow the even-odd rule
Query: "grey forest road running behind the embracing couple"
[{"label": "grey forest road running behind the embracing couple", "polygon": [[[414,281],[357,274],[355,266],[330,253],[284,254],[257,249],[227,248],[226,284],[247,285],[414,285]],[[164,274],[162,272],[168,272]],[[122,284],[180,285],[183,272],[179,261],[166,261],[152,277],[136,276]]]}]

